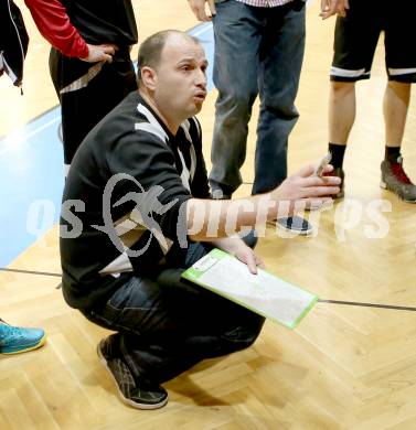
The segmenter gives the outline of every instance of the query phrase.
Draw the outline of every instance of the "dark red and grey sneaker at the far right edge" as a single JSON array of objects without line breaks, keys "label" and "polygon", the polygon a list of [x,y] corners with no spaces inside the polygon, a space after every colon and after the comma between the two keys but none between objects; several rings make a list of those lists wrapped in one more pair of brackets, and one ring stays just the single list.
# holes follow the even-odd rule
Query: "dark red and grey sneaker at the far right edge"
[{"label": "dark red and grey sneaker at the far right edge", "polygon": [[397,158],[397,162],[388,160],[382,161],[382,181],[380,186],[392,191],[398,197],[408,203],[416,203],[416,185],[412,183],[403,170],[403,158]]}]

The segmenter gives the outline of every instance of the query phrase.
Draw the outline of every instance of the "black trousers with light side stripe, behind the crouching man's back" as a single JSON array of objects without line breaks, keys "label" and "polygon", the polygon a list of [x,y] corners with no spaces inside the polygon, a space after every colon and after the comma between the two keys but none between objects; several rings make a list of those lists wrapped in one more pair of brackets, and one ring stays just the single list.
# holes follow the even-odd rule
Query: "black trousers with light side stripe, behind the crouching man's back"
[{"label": "black trousers with light side stripe, behind the crouching man's back", "polygon": [[68,168],[86,135],[129,93],[137,89],[128,47],[113,63],[86,63],[52,49],[51,77],[61,103],[64,162]]}]

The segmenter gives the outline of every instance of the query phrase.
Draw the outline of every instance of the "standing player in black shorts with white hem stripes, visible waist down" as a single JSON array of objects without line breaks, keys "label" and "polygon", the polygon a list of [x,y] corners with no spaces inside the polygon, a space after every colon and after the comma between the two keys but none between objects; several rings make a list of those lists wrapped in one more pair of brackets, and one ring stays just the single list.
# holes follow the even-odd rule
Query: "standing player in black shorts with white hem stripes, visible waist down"
[{"label": "standing player in black shorts with white hem stripes, visible waist down", "polygon": [[331,67],[329,103],[329,150],[335,174],[342,180],[343,158],[355,120],[355,83],[369,79],[380,33],[384,31],[387,85],[384,93],[385,151],[381,163],[381,186],[405,202],[416,202],[416,185],[403,169],[401,152],[406,126],[410,87],[416,80],[416,2],[404,0],[401,8],[376,0],[349,0],[346,17],[338,17]]}]

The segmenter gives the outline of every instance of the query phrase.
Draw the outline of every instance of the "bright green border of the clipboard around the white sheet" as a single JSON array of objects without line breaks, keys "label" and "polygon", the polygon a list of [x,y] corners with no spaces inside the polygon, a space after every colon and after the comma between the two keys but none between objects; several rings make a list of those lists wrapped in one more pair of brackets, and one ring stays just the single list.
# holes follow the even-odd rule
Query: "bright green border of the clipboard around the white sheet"
[{"label": "bright green border of the clipboard around the white sheet", "polygon": [[[218,261],[222,260],[226,256],[235,258],[231,254],[227,254],[227,252],[225,252],[225,251],[223,251],[222,249],[218,249],[218,248],[212,249],[206,256],[214,257]],[[203,257],[203,258],[205,258],[205,257]],[[273,275],[270,272],[267,272],[267,273],[276,277],[276,275]],[[299,325],[300,321],[303,320],[303,318],[311,311],[311,309],[317,304],[317,302],[319,300],[319,297],[317,294],[313,294],[312,292],[310,292],[309,290],[306,290],[305,288],[300,288],[299,286],[296,286],[296,284],[294,284],[291,282],[288,282],[288,283],[291,283],[294,287],[299,288],[299,290],[302,290],[302,291],[308,292],[309,294],[312,294],[312,297],[313,297],[313,299],[310,301],[309,305],[307,308],[305,308],[303,312],[296,319],[296,321],[294,323],[291,323],[291,324],[288,324],[288,323],[281,322],[281,321],[279,321],[277,319],[270,318],[270,316],[264,314],[263,312],[254,310],[254,308],[249,307],[246,303],[242,303],[239,300],[236,300],[234,298],[231,299],[228,294],[225,294],[225,293],[223,293],[221,291],[214,290],[210,286],[206,286],[205,283],[199,281],[199,278],[202,275],[204,275],[204,271],[200,271],[200,270],[194,269],[193,267],[190,267],[188,270],[182,272],[181,278],[184,278],[184,279],[186,279],[186,280],[189,280],[191,282],[194,282],[194,283],[196,283],[196,284],[199,284],[199,286],[201,286],[203,288],[206,288],[207,290],[210,290],[210,291],[212,291],[212,292],[214,292],[214,293],[216,293],[218,295],[222,295],[225,299],[232,300],[233,302],[239,304],[241,307],[246,308],[246,309],[250,310],[252,312],[258,313],[259,315],[263,315],[263,316],[267,318],[268,320],[271,320],[271,321],[274,321],[274,322],[276,322],[276,323],[278,323],[280,325],[284,325],[285,327],[290,329],[290,330],[294,330],[294,329],[296,329]],[[285,281],[285,279],[281,279],[281,280]],[[287,281],[285,281],[285,282],[287,282]]]}]

